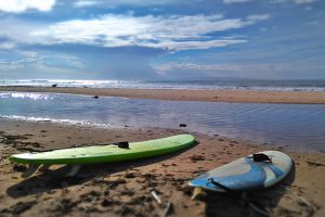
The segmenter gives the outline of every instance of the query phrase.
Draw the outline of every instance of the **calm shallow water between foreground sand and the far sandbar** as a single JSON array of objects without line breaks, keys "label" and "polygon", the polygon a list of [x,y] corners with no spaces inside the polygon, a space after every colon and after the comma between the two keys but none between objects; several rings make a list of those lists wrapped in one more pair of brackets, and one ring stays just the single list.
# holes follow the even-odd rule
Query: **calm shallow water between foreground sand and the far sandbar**
[{"label": "calm shallow water between foreground sand and the far sandbar", "polygon": [[[0,117],[161,127],[325,151],[325,105],[92,99],[52,93],[0,93]],[[0,126],[1,127],[1,126]]]}]

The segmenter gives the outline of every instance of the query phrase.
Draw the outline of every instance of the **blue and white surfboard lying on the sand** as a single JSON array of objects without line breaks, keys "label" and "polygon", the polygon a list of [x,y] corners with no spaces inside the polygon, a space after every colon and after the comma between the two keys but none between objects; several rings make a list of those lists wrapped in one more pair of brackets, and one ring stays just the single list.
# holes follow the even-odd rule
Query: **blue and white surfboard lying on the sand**
[{"label": "blue and white surfboard lying on the sand", "polygon": [[[242,157],[207,171],[190,181],[190,186],[205,190],[226,192],[216,182],[232,191],[248,191],[271,187],[288,175],[291,158],[283,152],[259,152],[271,157],[269,162],[253,162],[251,156]],[[214,183],[213,183],[214,182]]]}]

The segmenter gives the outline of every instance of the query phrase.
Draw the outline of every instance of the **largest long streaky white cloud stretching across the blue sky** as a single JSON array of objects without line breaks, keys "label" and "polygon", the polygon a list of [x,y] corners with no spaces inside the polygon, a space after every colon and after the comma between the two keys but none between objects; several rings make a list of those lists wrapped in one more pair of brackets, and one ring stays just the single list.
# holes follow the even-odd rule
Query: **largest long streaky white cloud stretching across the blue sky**
[{"label": "largest long streaky white cloud stretching across the blue sky", "polygon": [[5,30],[0,28],[0,37],[31,44],[80,43],[107,48],[140,46],[168,50],[208,49],[246,42],[238,37],[218,38],[211,35],[212,33],[243,28],[266,18],[269,18],[266,14],[250,15],[246,20],[202,14],[166,16],[108,14],[49,26],[8,21],[2,24],[4,26],[2,29]]}]

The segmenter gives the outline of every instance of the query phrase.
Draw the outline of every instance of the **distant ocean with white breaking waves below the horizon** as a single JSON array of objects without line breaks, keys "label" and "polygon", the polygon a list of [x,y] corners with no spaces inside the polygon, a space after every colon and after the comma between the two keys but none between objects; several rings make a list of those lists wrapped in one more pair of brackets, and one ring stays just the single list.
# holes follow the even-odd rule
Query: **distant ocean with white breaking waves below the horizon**
[{"label": "distant ocean with white breaking waves below the horizon", "polygon": [[191,80],[68,80],[0,79],[0,86],[88,87],[131,89],[212,89],[261,91],[325,91],[325,80],[191,79]]}]

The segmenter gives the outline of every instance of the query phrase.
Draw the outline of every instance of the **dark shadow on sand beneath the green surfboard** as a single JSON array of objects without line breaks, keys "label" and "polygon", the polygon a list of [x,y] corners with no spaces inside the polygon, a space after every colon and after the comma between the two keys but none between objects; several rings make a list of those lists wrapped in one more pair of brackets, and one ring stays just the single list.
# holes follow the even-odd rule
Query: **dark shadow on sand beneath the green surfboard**
[{"label": "dark shadow on sand beneath the green surfboard", "polygon": [[22,182],[10,187],[6,190],[6,193],[12,197],[21,197],[29,194],[50,192],[51,190],[55,189],[63,189],[70,186],[81,184],[89,180],[93,180],[94,182],[103,182],[102,177],[106,177],[115,173],[121,173],[131,168],[135,169],[136,167],[155,164],[178,156],[181,153],[193,149],[198,143],[199,142],[196,141],[193,145],[184,150],[156,157],[119,163],[83,165],[75,177],[65,176],[70,170],[70,166],[66,165],[60,167],[58,169],[48,170],[42,174],[36,174],[27,179],[24,179]]}]

